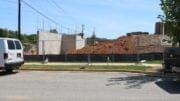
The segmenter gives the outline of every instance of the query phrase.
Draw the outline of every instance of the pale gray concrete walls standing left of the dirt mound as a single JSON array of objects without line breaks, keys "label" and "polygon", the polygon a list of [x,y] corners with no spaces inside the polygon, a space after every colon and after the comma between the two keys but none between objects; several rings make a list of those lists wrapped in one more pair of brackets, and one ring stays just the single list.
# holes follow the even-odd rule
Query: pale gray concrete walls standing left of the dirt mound
[{"label": "pale gray concrete walls standing left of the dirt mound", "polygon": [[69,50],[85,47],[86,39],[78,34],[57,34],[38,31],[38,55],[65,54]]}]

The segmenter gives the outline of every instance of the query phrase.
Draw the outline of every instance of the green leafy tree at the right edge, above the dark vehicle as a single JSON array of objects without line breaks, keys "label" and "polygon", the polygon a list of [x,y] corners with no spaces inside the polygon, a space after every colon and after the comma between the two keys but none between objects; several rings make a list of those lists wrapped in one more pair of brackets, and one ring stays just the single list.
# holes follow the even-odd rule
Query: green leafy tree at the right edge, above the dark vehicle
[{"label": "green leafy tree at the right edge, above the dark vehicle", "polygon": [[179,43],[180,47],[180,1],[179,0],[161,0],[161,9],[163,15],[158,18],[165,24],[165,32],[172,38],[173,46]]}]

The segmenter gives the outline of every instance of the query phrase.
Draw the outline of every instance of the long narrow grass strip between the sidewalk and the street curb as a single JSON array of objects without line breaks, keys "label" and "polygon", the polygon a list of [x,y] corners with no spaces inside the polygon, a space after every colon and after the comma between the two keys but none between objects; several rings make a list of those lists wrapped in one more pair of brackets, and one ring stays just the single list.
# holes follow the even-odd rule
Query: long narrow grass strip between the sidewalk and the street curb
[{"label": "long narrow grass strip between the sidewalk and the street curb", "polygon": [[148,66],[138,66],[138,65],[132,65],[132,66],[95,66],[95,65],[85,65],[85,66],[78,66],[78,65],[23,65],[21,69],[26,70],[59,70],[59,71],[86,71],[86,70],[105,70],[105,71],[115,71],[115,70],[129,70],[129,71],[145,71],[146,69],[149,69],[151,67]]}]

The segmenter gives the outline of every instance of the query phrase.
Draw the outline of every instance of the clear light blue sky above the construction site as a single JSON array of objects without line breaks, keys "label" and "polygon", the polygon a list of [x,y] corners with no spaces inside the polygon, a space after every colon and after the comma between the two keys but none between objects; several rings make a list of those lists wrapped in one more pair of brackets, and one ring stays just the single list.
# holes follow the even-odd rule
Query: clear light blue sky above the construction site
[{"label": "clear light blue sky above the construction site", "polygon": [[[1,28],[17,29],[17,1],[0,0]],[[157,16],[162,14],[160,0],[24,1],[58,23],[52,23],[22,3],[22,32],[29,34],[36,33],[37,29],[50,28],[75,33],[81,31],[84,24],[85,37],[91,36],[95,29],[96,36],[115,39],[134,31],[154,33],[154,24],[159,21]]]}]

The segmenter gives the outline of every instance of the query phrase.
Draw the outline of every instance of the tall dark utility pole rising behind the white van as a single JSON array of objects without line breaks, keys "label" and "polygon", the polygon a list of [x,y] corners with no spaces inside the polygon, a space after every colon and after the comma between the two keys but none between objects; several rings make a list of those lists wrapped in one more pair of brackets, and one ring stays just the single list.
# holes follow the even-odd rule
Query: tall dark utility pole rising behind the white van
[{"label": "tall dark utility pole rising behind the white van", "polygon": [[21,0],[18,0],[18,38],[21,40]]}]

